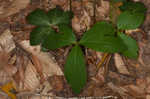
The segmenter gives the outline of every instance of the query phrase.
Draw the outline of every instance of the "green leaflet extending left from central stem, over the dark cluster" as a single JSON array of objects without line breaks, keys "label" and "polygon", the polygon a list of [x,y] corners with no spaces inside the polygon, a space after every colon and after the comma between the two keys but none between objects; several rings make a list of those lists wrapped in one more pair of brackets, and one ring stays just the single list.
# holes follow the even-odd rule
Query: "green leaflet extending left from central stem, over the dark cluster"
[{"label": "green leaflet extending left from central stem, over the dark cluster", "polygon": [[76,43],[76,37],[72,29],[67,25],[60,25],[59,33],[52,33],[51,35],[47,36],[42,43],[42,47],[54,50],[74,43]]}]

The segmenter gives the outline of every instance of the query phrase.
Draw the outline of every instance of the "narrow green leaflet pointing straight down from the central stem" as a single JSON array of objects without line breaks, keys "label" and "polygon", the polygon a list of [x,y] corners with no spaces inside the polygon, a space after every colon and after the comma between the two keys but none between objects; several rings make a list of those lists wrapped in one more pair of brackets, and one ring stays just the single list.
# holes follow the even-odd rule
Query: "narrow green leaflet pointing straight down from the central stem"
[{"label": "narrow green leaflet pointing straight down from the central stem", "polygon": [[64,67],[64,74],[74,93],[79,94],[87,80],[85,60],[81,48],[72,48]]}]

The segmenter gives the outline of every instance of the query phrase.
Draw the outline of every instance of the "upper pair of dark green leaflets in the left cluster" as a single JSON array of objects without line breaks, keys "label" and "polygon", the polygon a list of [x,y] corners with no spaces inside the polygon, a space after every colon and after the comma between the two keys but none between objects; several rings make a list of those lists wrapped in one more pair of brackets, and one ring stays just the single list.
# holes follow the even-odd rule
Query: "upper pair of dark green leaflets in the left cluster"
[{"label": "upper pair of dark green leaflets in the left cluster", "polygon": [[36,9],[27,16],[27,21],[37,26],[54,26],[60,24],[69,24],[73,14],[70,11],[64,12],[56,7],[48,13],[41,9]]}]

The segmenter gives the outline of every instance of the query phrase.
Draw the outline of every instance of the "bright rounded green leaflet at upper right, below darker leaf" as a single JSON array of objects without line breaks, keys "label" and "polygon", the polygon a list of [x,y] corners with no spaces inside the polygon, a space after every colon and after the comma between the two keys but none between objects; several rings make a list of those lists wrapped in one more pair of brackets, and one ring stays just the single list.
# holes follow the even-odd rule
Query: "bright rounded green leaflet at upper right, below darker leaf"
[{"label": "bright rounded green leaflet at upper right, below darker leaf", "polygon": [[144,22],[144,14],[143,13],[131,13],[129,11],[125,11],[120,14],[117,19],[117,27],[118,29],[136,29]]}]

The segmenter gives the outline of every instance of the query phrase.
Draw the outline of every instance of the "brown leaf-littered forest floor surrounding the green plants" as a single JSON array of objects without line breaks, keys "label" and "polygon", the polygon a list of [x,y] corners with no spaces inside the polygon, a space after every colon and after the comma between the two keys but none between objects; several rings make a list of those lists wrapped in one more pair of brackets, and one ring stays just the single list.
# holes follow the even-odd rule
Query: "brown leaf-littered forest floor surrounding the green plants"
[{"label": "brown leaf-littered forest floor surrounding the green plants", "polygon": [[[17,99],[150,99],[150,0],[135,1],[148,9],[143,25],[127,31],[139,45],[138,59],[113,54],[96,72],[104,53],[85,49],[88,81],[75,95],[63,73],[70,47],[41,52],[39,46],[30,46],[34,26],[27,23],[26,16],[36,8],[72,10],[72,28],[80,38],[95,22],[109,20],[109,0],[72,0],[71,4],[70,0],[0,0],[0,86],[14,87]],[[0,99],[7,95],[14,97],[13,92],[0,90]]]}]

